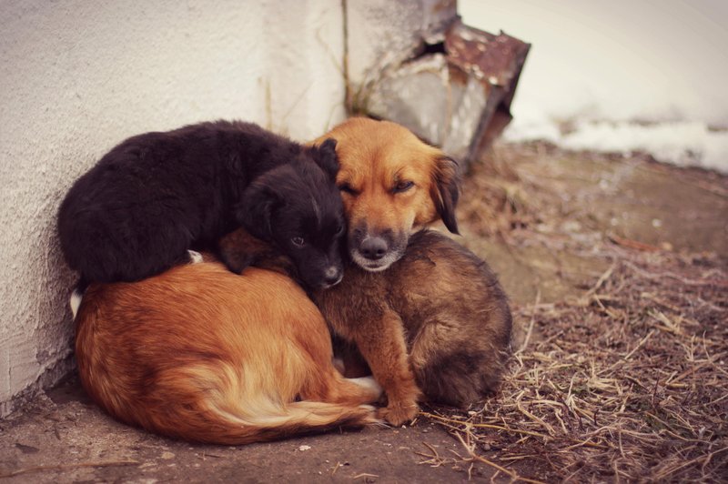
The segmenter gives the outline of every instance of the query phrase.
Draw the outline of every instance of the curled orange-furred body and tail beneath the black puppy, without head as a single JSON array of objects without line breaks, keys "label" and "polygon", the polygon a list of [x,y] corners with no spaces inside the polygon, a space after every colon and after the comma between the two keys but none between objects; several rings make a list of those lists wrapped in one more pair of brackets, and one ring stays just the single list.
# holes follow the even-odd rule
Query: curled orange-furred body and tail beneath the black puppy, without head
[{"label": "curled orange-furred body and tail beneath the black puppy, without head", "polygon": [[333,368],[329,329],[288,277],[218,263],[92,285],[76,315],[86,391],[162,435],[244,444],[376,421],[376,383]]}]

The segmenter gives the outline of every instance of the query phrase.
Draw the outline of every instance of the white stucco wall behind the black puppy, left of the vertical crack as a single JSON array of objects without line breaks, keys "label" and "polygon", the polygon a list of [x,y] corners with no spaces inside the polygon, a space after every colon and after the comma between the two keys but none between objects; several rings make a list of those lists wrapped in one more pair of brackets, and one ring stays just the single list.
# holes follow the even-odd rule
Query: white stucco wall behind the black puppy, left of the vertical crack
[{"label": "white stucco wall behind the black puppy, left of the vertical crack", "polygon": [[69,368],[56,210],[119,141],[216,118],[296,139],[345,115],[339,0],[0,2],[0,416]]}]

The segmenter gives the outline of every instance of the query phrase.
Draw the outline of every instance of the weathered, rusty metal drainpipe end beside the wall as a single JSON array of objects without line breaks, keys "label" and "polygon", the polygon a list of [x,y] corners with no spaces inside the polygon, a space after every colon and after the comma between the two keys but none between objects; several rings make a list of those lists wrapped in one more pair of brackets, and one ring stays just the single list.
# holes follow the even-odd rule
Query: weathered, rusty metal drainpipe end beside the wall
[{"label": "weathered, rusty metal drainpipe end beside the wall", "polygon": [[454,16],[422,39],[418,54],[380,73],[365,112],[409,127],[467,166],[511,121],[529,48]]}]

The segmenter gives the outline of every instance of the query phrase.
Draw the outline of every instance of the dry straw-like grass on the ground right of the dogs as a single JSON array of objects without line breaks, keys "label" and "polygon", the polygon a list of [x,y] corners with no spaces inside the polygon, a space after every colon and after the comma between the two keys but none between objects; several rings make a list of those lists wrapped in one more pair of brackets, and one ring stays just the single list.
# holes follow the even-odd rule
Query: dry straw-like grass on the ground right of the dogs
[{"label": "dry straw-like grass on the ground right of the dogs", "polygon": [[[487,183],[490,227],[533,223],[512,195],[522,184]],[[424,462],[506,479],[728,479],[728,263],[606,237],[593,250],[612,264],[581,297],[514,309],[521,338],[497,398],[423,412],[463,445]]]}]

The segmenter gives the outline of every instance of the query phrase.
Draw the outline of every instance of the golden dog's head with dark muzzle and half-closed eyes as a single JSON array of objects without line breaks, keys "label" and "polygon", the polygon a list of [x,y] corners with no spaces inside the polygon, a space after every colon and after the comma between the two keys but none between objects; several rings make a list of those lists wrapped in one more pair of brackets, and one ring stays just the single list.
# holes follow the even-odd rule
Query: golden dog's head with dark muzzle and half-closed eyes
[{"label": "golden dog's head with dark muzzle and half-closed eyes", "polygon": [[442,219],[458,233],[457,164],[407,128],[352,118],[327,138],[337,140],[349,255],[369,271],[384,270],[405,252],[410,234]]}]

